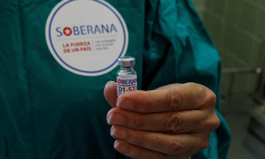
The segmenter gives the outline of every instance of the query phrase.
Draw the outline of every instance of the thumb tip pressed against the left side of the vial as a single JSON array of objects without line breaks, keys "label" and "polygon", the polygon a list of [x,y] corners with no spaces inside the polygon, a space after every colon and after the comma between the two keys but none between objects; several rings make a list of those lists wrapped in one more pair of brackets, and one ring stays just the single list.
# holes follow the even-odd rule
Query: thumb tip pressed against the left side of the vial
[{"label": "thumb tip pressed against the left side of the vial", "polygon": [[104,96],[111,107],[116,107],[117,102],[117,84],[114,81],[109,81],[106,83],[104,88]]}]

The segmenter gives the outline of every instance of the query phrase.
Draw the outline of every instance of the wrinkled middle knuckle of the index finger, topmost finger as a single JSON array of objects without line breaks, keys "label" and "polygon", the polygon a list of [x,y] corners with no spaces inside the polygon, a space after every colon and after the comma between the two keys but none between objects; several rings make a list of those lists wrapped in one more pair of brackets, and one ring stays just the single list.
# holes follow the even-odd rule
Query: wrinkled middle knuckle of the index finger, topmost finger
[{"label": "wrinkled middle knuckle of the index finger, topmost finger", "polygon": [[180,93],[176,89],[171,89],[167,93],[167,110],[174,111],[181,103]]}]

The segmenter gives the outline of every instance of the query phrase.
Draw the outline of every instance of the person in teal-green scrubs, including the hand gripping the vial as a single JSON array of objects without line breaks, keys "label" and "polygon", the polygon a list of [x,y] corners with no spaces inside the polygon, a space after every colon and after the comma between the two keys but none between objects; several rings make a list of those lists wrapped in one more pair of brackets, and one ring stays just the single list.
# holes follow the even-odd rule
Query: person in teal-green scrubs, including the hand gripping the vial
[{"label": "person in teal-green scrubs, including the hand gripping the vial", "polygon": [[119,98],[119,67],[80,76],[50,54],[59,1],[0,1],[0,158],[225,159],[220,57],[191,1],[106,1],[127,24],[141,90]]}]

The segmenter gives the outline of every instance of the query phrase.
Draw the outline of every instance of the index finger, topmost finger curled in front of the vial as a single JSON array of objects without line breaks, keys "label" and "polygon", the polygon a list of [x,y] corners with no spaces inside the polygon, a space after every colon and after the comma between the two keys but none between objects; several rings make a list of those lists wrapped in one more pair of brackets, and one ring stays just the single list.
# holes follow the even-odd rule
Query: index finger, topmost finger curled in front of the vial
[{"label": "index finger, topmost finger curled in front of the vial", "polygon": [[202,107],[208,88],[186,83],[172,84],[152,91],[130,91],[117,99],[117,107],[139,113],[194,110]]}]

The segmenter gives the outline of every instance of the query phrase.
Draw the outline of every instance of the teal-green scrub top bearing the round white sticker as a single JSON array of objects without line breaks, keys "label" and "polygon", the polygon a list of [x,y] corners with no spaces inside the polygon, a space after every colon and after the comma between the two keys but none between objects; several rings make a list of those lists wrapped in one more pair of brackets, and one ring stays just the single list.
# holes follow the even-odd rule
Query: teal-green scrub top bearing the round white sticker
[{"label": "teal-green scrub top bearing the round white sticker", "polygon": [[[103,96],[116,67],[96,77],[64,69],[45,40],[59,0],[0,1],[0,158],[125,159],[113,148]],[[221,125],[194,159],[224,159],[230,143],[220,114],[220,58],[190,0],[107,0],[129,31],[138,89],[196,82],[217,95]]]}]

